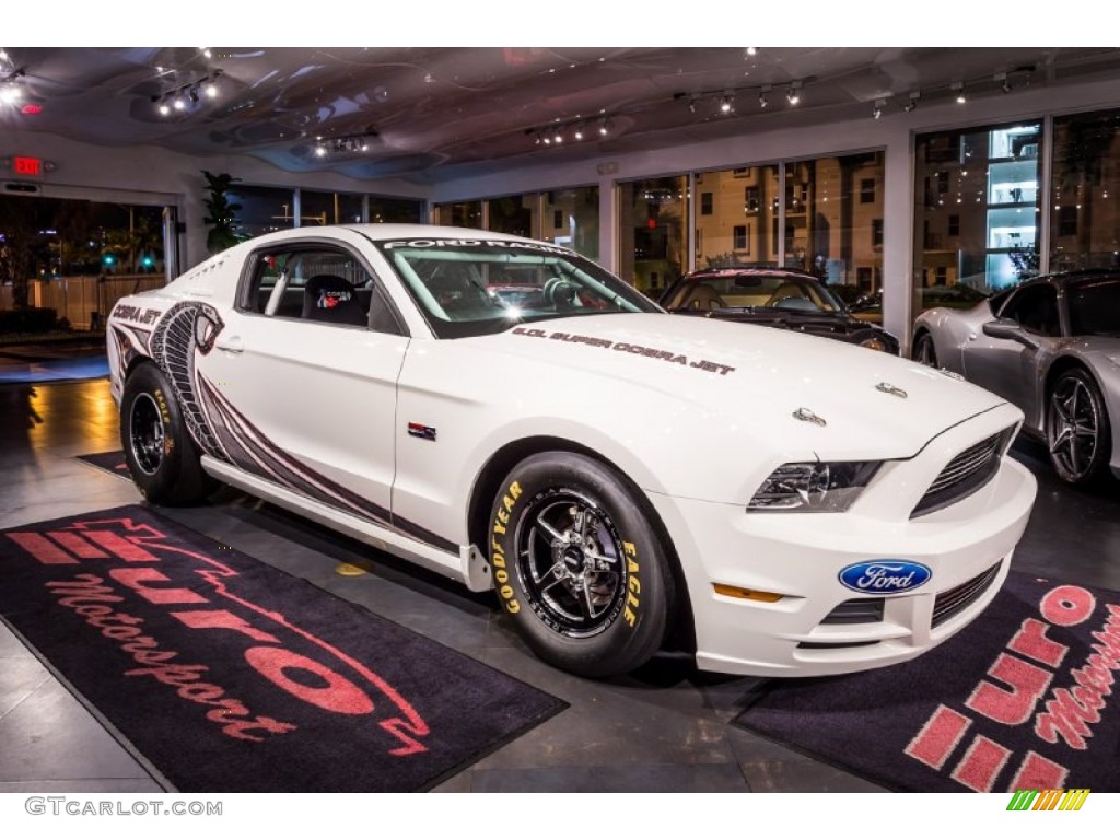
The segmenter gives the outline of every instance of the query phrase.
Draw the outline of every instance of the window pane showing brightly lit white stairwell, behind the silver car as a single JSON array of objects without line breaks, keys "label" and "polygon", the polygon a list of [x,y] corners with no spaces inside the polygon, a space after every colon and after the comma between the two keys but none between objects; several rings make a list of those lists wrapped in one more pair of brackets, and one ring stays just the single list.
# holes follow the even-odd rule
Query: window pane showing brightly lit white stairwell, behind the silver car
[{"label": "window pane showing brightly lit white stairwell, behind the silver car", "polygon": [[1038,273],[1040,143],[1040,121],[918,136],[915,315]]}]

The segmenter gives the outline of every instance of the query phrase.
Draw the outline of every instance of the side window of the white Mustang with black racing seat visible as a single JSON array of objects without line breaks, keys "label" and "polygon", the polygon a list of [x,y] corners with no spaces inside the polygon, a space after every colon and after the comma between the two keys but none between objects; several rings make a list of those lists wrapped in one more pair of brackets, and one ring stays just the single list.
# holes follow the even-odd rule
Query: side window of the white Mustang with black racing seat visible
[{"label": "side window of the white Mustang with black racing seat visible", "polygon": [[321,245],[259,251],[242,296],[242,310],[267,318],[403,330],[364,263]]}]

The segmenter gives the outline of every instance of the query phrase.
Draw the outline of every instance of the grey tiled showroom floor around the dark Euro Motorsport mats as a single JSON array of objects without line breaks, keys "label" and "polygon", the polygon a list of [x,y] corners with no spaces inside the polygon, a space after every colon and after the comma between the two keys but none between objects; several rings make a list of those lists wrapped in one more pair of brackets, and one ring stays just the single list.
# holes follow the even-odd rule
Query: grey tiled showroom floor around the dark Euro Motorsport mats
[{"label": "grey tiled showroom floor around the dark Euro Motorsport mats", "polygon": [[[0,385],[0,529],[137,503],[121,477],[75,458],[119,449],[103,379]],[[1015,567],[1120,589],[1120,485],[1061,487],[1032,444],[1014,450],[1039,477]],[[538,662],[491,597],[475,596],[271,505],[221,491],[178,522],[363,603],[388,618],[536,685],[570,708],[449,778],[439,791],[879,791],[737,728],[756,681],[698,673],[665,657],[640,675],[590,682]],[[336,572],[339,563],[370,570]],[[158,792],[39,660],[0,626],[0,793]]]}]

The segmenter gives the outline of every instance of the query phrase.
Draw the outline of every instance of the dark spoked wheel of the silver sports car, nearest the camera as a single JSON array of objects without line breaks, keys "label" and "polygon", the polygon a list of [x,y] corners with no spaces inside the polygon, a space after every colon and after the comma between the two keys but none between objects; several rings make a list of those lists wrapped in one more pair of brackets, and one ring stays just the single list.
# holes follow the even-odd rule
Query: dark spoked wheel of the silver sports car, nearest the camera
[{"label": "dark spoked wheel of the silver sports car, nearest the camera", "polygon": [[1104,473],[1112,451],[1112,427],[1100,389],[1086,371],[1068,370],[1051,389],[1046,442],[1062,480],[1086,485]]}]

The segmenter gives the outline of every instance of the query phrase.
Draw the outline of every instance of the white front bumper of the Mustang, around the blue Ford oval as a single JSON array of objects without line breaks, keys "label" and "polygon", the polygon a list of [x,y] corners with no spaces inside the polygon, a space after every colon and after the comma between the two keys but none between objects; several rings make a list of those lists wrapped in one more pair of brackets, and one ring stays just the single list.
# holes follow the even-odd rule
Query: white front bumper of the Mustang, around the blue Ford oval
[{"label": "white front bumper of the Mustang, around the blue Ford oval", "polygon": [[[942,432],[917,456],[885,465],[846,513],[748,514],[743,505],[651,494],[689,587],[698,665],[768,676],[848,673],[914,659],[967,626],[1007,577],[1035,478],[1005,457],[965,498],[914,519],[911,512],[950,460],[1019,419],[1001,407]],[[922,563],[932,573],[898,594],[841,584],[842,569],[871,560]],[[781,598],[731,597],[716,585]],[[874,617],[852,620],[849,613],[838,622],[864,606],[849,601],[877,598]]]}]

